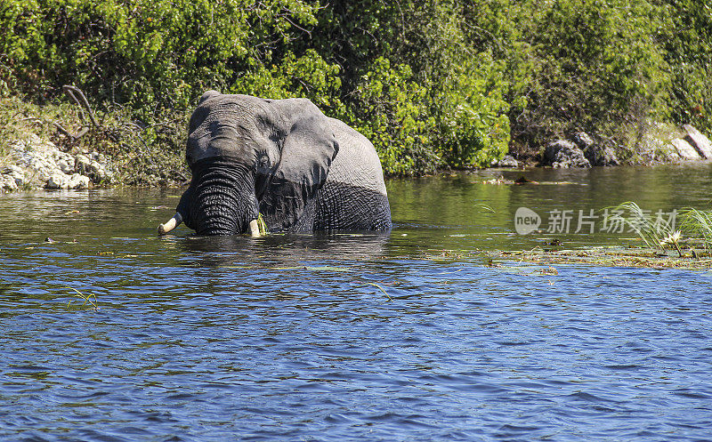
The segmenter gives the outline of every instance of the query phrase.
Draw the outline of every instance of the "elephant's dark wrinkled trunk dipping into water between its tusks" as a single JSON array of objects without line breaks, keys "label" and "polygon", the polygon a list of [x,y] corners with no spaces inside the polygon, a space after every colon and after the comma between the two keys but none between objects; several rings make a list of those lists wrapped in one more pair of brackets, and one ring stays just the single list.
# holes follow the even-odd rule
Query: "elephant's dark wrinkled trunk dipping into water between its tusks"
[{"label": "elephant's dark wrinkled trunk dipping into water between its tusks", "polygon": [[197,181],[190,212],[198,235],[247,233],[259,210],[253,173],[239,165],[214,162],[194,168],[193,179]]}]

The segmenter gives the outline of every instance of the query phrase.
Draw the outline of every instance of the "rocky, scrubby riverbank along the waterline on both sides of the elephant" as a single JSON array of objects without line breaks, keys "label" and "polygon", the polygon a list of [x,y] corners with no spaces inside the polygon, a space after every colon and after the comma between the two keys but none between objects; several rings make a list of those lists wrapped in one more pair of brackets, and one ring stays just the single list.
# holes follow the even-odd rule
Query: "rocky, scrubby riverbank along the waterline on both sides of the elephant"
[{"label": "rocky, scrubby riverbank along the waterline on both sides of the elephant", "polygon": [[[0,192],[21,189],[177,187],[190,181],[183,146],[189,112],[144,125],[122,108],[93,112],[66,105],[0,100]],[[621,160],[619,158],[627,158]],[[506,155],[492,167],[568,168],[659,165],[712,159],[712,143],[692,125],[654,124],[631,151],[587,133],[551,141],[538,152]]]}]

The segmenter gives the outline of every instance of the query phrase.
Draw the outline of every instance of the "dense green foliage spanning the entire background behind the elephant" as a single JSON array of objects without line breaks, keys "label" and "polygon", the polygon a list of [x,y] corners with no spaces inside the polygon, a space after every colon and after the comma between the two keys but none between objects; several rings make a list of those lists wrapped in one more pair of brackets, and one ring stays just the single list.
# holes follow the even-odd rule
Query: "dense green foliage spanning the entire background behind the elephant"
[{"label": "dense green foliage spanning the entire background behind the elephant", "polygon": [[1,94],[75,84],[178,151],[155,124],[209,88],[308,97],[397,174],[712,129],[707,0],[0,0],[0,27]]}]

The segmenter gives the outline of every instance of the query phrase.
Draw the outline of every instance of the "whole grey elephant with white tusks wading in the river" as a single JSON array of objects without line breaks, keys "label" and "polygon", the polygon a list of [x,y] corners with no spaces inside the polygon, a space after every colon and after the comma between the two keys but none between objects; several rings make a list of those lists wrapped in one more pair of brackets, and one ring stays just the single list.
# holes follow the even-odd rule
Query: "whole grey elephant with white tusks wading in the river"
[{"label": "whole grey elephant with white tusks wading in the river", "polygon": [[207,91],[190,117],[192,180],[160,235],[199,236],[392,227],[373,144],[311,100]]}]

